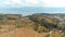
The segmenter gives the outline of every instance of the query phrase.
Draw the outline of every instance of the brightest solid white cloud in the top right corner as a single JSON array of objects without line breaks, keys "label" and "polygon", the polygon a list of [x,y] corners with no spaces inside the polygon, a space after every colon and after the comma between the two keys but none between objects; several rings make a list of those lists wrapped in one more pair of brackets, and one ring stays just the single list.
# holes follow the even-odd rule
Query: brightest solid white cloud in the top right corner
[{"label": "brightest solid white cloud in the top right corner", "polygon": [[40,1],[44,3],[43,7],[55,7],[55,8],[65,7],[65,0],[40,0]]}]

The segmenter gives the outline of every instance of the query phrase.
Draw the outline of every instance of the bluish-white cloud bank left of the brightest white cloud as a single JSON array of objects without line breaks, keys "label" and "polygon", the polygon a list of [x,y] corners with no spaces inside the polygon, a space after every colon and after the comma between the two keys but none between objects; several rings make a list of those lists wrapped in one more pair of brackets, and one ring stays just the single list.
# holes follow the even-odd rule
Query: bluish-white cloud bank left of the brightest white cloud
[{"label": "bluish-white cloud bank left of the brightest white cloud", "polygon": [[4,7],[36,7],[39,4],[37,0],[5,0],[0,2]]}]

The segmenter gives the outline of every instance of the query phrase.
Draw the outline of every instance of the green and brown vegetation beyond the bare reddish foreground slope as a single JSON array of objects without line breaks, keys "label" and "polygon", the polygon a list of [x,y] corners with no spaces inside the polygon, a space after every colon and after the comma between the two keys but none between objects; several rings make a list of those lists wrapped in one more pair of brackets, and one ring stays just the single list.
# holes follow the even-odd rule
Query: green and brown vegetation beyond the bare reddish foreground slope
[{"label": "green and brown vegetation beyond the bare reddish foreground slope", "polygon": [[[60,18],[49,16],[49,15],[28,15],[28,16],[22,16],[21,14],[1,14],[0,15],[0,26],[13,26],[9,27],[8,30],[12,30],[14,28],[22,28],[22,27],[29,27],[38,33],[51,33],[50,36],[52,37],[65,37],[62,35],[62,32],[65,30],[65,23],[61,23]],[[5,28],[5,27],[0,27]],[[62,30],[62,32],[60,32]]]}]

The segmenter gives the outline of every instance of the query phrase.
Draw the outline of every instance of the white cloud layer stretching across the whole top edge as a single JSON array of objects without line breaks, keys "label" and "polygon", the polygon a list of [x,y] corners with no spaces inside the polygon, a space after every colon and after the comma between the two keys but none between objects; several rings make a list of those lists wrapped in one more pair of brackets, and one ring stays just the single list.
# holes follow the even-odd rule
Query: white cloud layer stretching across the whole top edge
[{"label": "white cloud layer stretching across the whole top edge", "polygon": [[65,0],[2,0],[1,7],[65,7]]}]

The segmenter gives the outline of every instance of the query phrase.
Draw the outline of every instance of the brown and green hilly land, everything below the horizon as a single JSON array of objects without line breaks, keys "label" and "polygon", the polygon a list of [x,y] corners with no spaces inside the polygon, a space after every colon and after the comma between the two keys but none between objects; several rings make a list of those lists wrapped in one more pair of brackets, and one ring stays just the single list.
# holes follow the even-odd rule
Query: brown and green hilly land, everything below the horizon
[{"label": "brown and green hilly land, everything below the horizon", "polygon": [[26,16],[23,16],[22,14],[0,14],[0,33],[2,35],[4,34],[5,36],[6,33],[9,33],[9,35],[15,33],[18,36],[18,34],[22,34],[22,32],[26,27],[27,29],[23,33],[28,34],[28,32],[30,30],[28,35],[32,34],[34,32],[35,36],[44,35],[43,37],[50,37],[50,36],[65,37],[64,22],[65,22],[65,14],[60,13],[57,14],[36,13]]}]

